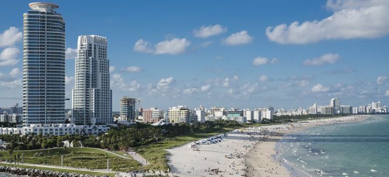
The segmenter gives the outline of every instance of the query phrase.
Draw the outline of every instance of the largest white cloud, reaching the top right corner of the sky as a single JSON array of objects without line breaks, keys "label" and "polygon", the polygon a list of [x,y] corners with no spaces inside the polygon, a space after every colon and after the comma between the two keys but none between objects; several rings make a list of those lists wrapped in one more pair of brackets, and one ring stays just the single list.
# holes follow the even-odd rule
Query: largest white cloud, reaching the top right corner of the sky
[{"label": "largest white cloud, reaching the top right corner of the sky", "polygon": [[327,1],[334,13],[320,21],[295,21],[266,28],[267,37],[281,44],[305,44],[328,39],[375,38],[389,33],[389,1]]}]

